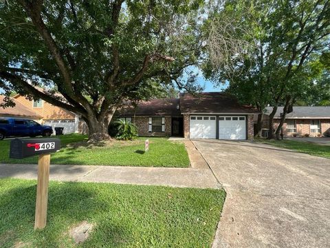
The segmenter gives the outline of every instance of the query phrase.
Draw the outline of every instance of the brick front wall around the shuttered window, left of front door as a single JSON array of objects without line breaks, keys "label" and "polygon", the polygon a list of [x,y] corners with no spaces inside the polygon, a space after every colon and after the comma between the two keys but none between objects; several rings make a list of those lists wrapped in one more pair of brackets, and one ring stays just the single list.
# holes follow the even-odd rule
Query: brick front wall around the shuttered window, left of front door
[{"label": "brick front wall around the shuttered window, left of front door", "polygon": [[152,116],[135,116],[133,123],[137,126],[139,136],[170,136],[172,119],[170,116],[165,117],[165,132],[149,132],[149,117]]}]

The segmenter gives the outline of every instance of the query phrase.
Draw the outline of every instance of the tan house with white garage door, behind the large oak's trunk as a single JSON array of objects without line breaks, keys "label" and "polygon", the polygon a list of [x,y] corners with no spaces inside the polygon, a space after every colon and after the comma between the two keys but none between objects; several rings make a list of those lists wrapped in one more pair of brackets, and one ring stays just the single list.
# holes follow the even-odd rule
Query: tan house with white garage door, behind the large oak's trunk
[{"label": "tan house with white garage door, behind the large oak's trunk", "polygon": [[[41,116],[41,123],[53,127],[64,127],[64,134],[78,133],[79,130],[79,116],[64,110],[61,107],[54,106],[43,100],[29,100],[25,96],[17,94],[13,96],[14,100],[28,108],[30,112]],[[55,132],[54,132],[55,134]]]}]

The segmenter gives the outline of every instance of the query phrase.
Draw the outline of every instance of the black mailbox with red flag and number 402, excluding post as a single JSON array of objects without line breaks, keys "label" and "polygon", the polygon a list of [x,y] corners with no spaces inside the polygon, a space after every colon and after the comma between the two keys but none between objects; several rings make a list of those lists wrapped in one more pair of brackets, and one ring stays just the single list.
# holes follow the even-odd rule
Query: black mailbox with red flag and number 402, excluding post
[{"label": "black mailbox with red flag and number 402, excluding post", "polygon": [[10,158],[27,158],[39,154],[58,152],[61,141],[58,138],[15,138],[10,142]]}]

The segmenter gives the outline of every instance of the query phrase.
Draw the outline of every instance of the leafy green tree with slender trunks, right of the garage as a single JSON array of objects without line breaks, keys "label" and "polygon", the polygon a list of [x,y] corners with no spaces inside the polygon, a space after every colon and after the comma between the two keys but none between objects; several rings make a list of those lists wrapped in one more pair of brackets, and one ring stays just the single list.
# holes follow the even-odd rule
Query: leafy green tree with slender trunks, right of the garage
[{"label": "leafy green tree with slender trunks, right of the garage", "polygon": [[274,106],[270,130],[278,105],[284,105],[278,135],[290,105],[313,90],[326,90],[320,87],[329,80],[329,71],[320,58],[329,52],[329,5],[327,0],[227,1],[215,15],[234,18],[237,28],[222,28],[216,35],[241,37],[245,43],[234,45],[243,50],[238,50],[240,56],[232,54],[228,59],[233,64],[226,67],[212,60],[211,48],[204,73],[218,83],[228,81],[229,92],[261,111],[267,104]]}]

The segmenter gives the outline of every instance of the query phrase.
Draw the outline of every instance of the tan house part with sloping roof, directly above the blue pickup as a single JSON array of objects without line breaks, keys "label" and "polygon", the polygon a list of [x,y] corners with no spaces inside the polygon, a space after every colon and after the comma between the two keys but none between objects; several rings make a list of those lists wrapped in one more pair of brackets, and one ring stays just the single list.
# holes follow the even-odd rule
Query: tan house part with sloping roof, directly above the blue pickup
[{"label": "tan house part with sloping roof, directly above the blue pickup", "polygon": [[[5,96],[0,96],[0,103],[3,103]],[[15,107],[0,107],[0,118],[10,117],[10,118],[28,118],[30,120],[37,121],[41,123],[42,116],[29,110],[28,107],[25,107],[22,103],[16,99],[12,99],[15,103]]]}]

